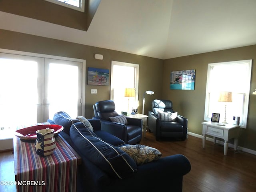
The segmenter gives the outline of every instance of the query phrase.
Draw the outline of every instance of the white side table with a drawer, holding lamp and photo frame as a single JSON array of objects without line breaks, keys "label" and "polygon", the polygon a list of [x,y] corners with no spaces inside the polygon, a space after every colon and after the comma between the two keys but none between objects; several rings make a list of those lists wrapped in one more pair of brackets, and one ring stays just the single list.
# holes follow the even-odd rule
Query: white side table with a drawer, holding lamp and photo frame
[{"label": "white side table with a drawer, holding lamp and photo frame", "polygon": [[220,126],[218,123],[207,121],[202,122],[203,124],[203,148],[205,146],[206,135],[213,136],[214,144],[216,138],[224,139],[224,155],[228,153],[228,140],[234,138],[234,150],[237,150],[238,137],[240,135],[241,126],[234,124],[225,124]]}]

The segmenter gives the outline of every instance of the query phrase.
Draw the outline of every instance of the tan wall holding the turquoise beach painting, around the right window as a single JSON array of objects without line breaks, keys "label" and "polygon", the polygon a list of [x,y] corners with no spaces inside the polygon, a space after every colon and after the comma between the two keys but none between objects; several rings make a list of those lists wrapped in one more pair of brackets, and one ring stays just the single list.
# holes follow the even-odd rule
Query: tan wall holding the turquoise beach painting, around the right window
[{"label": "tan wall holding the turquoise beach painting, around the right window", "polygon": [[[252,76],[247,128],[238,145],[256,150],[256,45],[164,60],[162,97],[173,101],[174,110],[188,118],[188,131],[202,135],[208,63],[252,59]],[[196,69],[195,90],[170,90],[170,71]],[[238,72],[242,80],[242,74]],[[231,141],[232,142],[232,141]]]}]

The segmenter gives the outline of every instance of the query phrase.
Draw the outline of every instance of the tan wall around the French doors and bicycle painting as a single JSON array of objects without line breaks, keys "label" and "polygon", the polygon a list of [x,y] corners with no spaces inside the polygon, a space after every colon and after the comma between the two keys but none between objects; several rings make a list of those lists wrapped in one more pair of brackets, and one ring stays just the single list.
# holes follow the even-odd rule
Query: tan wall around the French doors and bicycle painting
[{"label": "tan wall around the French doors and bicycle painting", "polygon": [[[139,71],[139,107],[142,113],[142,97],[146,90],[155,92],[147,96],[144,113],[148,114],[151,109],[153,98],[159,98],[162,94],[163,60],[129,54],[114,50],[75,44],[61,40],[54,40],[39,36],[22,34],[0,29],[0,48],[18,50],[24,52],[40,53],[47,55],[79,58],[86,60],[86,74],[88,67],[109,69],[111,75],[111,61],[128,62],[140,65]],[[103,60],[94,59],[94,54],[102,54]],[[111,82],[110,82],[111,83]],[[91,89],[97,89],[97,94],[91,94]],[[86,118],[94,116],[92,105],[100,100],[110,99],[110,86],[88,85],[86,79]]]}]

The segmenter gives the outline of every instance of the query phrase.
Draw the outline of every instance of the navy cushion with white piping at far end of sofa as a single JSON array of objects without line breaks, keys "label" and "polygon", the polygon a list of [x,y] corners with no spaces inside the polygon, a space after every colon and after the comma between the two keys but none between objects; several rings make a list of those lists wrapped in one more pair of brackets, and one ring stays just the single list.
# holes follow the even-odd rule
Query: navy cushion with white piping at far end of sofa
[{"label": "navy cushion with white piping at far end of sofa", "polygon": [[73,123],[79,122],[78,119],[72,119],[66,112],[60,111],[54,114],[53,121],[57,125],[63,126],[63,131],[69,134],[70,127]]}]

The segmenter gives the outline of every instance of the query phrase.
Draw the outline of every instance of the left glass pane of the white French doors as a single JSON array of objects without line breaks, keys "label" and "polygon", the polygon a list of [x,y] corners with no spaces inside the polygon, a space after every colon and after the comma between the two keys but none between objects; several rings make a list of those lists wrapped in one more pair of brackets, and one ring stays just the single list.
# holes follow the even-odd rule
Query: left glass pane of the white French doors
[{"label": "left glass pane of the white French doors", "polygon": [[0,139],[37,122],[40,59],[0,54]]}]

